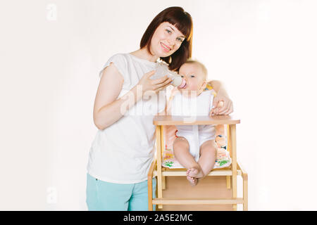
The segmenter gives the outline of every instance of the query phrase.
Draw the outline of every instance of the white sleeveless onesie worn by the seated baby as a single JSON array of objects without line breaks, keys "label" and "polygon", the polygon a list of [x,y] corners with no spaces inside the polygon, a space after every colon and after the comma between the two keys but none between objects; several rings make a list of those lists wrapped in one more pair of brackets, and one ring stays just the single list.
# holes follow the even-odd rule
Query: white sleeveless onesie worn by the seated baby
[{"label": "white sleeveless onesie worn by the seated baby", "polygon": [[[203,91],[199,96],[186,98],[178,92],[173,96],[171,115],[195,117],[209,115],[213,104],[212,91]],[[177,136],[182,136],[189,143],[189,152],[199,160],[199,149],[205,141],[214,140],[216,129],[213,125],[178,125]]]}]

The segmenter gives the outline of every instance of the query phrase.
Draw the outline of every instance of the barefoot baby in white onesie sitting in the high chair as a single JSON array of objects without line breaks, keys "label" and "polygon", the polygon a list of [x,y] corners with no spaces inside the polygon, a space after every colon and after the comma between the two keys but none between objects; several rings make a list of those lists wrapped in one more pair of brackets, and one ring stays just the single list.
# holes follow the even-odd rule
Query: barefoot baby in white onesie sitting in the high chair
[{"label": "barefoot baby in white onesie sitting in the high chair", "polygon": [[[179,70],[186,86],[178,89],[168,105],[168,113],[178,116],[209,115],[213,103],[212,91],[206,89],[207,70],[196,60],[188,60]],[[203,178],[215,164],[216,130],[213,125],[181,125],[173,143],[173,153],[180,165],[187,169],[192,186]]]}]

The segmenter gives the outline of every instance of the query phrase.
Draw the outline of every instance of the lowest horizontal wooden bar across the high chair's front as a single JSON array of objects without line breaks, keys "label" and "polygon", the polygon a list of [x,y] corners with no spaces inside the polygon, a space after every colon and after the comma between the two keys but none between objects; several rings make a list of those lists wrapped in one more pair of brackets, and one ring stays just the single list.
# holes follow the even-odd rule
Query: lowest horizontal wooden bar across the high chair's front
[{"label": "lowest horizontal wooden bar across the high chair's front", "polygon": [[154,198],[153,205],[232,205],[243,204],[243,198]]}]

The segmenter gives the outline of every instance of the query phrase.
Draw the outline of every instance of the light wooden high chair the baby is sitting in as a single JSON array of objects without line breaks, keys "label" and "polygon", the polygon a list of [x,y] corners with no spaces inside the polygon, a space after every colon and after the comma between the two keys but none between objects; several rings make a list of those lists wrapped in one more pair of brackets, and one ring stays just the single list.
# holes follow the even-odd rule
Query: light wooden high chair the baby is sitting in
[{"label": "light wooden high chair the baby is sitting in", "polygon": [[[152,162],[148,174],[148,193],[149,193],[149,211],[153,210],[153,205],[159,209],[163,205],[232,205],[232,210],[237,210],[237,204],[243,204],[243,210],[248,209],[247,172],[237,163],[237,146],[236,146],[236,124],[240,123],[230,115],[218,116],[200,116],[196,120],[189,122],[185,117],[170,115],[156,115],[154,125],[156,125],[156,159]],[[164,147],[163,126],[182,125],[182,124],[227,124],[228,126],[228,150],[232,163],[229,167],[222,169],[213,169],[207,176],[226,176],[227,188],[231,188],[231,198],[164,198],[163,189],[165,189],[166,176],[186,176],[186,169],[169,169],[162,168],[162,153]],[[243,180],[243,198],[237,198],[237,176],[242,176]],[[157,177],[157,198],[152,196],[152,177]],[[185,179],[185,178],[184,178]]]}]

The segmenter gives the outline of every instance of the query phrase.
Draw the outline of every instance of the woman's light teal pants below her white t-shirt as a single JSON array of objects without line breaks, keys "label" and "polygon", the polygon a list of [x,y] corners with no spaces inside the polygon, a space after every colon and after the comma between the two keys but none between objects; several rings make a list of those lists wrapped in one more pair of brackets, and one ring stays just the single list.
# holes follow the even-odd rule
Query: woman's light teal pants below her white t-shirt
[{"label": "woman's light teal pants below her white t-shirt", "polygon": [[[156,179],[152,179],[156,198]],[[89,211],[147,211],[149,210],[147,181],[137,184],[113,184],[87,174],[87,207]],[[155,210],[155,205],[153,206]]]}]

